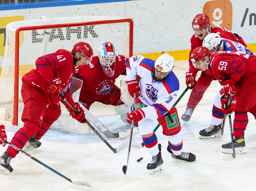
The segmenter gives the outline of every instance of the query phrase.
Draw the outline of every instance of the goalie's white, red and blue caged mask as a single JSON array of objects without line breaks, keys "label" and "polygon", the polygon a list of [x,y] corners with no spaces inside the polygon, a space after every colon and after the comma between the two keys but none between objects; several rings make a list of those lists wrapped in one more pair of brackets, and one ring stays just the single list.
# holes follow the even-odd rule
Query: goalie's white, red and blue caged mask
[{"label": "goalie's white, red and blue caged mask", "polygon": [[100,59],[100,65],[104,73],[108,77],[114,76],[116,67],[116,52],[114,45],[110,42],[103,43],[98,48],[97,55]]}]

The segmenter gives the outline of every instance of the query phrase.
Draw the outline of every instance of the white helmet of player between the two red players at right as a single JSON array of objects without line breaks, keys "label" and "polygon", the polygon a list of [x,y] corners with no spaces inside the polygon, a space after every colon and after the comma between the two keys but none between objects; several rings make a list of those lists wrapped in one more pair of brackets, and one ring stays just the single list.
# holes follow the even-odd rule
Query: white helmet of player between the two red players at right
[{"label": "white helmet of player between the two red players at right", "polygon": [[214,52],[221,51],[223,42],[220,35],[216,33],[209,33],[208,35],[206,35],[205,39],[203,39],[202,46],[207,47],[207,49],[209,49],[212,54],[212,50]]}]

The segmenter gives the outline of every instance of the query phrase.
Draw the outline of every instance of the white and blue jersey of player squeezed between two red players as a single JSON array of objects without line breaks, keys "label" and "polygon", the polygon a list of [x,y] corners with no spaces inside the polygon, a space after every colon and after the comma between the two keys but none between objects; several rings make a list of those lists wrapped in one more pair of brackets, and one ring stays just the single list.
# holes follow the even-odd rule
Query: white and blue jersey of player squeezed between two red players
[{"label": "white and blue jersey of player squeezed between two red players", "polygon": [[243,44],[239,42],[235,42],[235,41],[224,39],[224,38],[221,38],[221,39],[224,47],[223,51],[235,51],[242,54],[254,55],[252,51],[250,51],[247,47],[245,47]]}]

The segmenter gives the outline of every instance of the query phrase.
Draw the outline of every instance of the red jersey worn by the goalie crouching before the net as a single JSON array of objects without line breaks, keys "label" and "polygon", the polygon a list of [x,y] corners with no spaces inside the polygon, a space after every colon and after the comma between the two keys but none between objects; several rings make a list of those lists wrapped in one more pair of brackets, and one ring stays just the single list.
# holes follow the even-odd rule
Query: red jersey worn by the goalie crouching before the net
[{"label": "red jersey worn by the goalie crouching before the net", "polygon": [[83,80],[80,94],[81,100],[94,102],[110,94],[114,87],[115,79],[120,75],[126,75],[125,65],[127,58],[117,54],[115,62],[116,68],[112,77],[108,77],[104,73],[97,56],[92,57],[90,64],[79,67],[79,71],[74,74],[74,77]]}]

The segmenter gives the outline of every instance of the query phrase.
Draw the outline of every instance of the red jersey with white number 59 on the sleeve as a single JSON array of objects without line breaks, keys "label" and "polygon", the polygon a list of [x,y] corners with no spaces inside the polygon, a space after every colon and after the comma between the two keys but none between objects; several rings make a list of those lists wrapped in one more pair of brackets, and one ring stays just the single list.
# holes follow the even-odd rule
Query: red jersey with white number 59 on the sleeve
[{"label": "red jersey with white number 59 on the sleeve", "polygon": [[209,73],[219,82],[231,78],[236,82],[256,73],[256,56],[233,51],[214,52],[211,55]]}]

